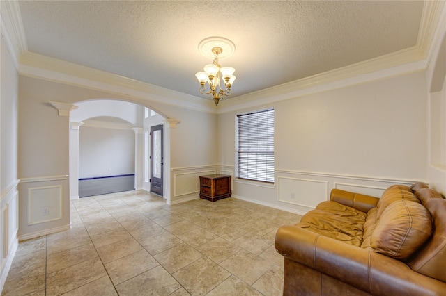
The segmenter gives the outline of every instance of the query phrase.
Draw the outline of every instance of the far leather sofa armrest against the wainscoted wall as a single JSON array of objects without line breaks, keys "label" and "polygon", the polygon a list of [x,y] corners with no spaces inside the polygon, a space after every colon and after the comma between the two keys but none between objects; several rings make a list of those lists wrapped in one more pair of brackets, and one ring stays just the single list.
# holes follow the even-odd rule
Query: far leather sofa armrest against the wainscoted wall
[{"label": "far leather sofa armrest against the wainscoted wall", "polygon": [[379,198],[370,195],[362,195],[360,193],[332,189],[330,200],[367,213],[371,208],[374,208],[376,204],[378,204]]}]

